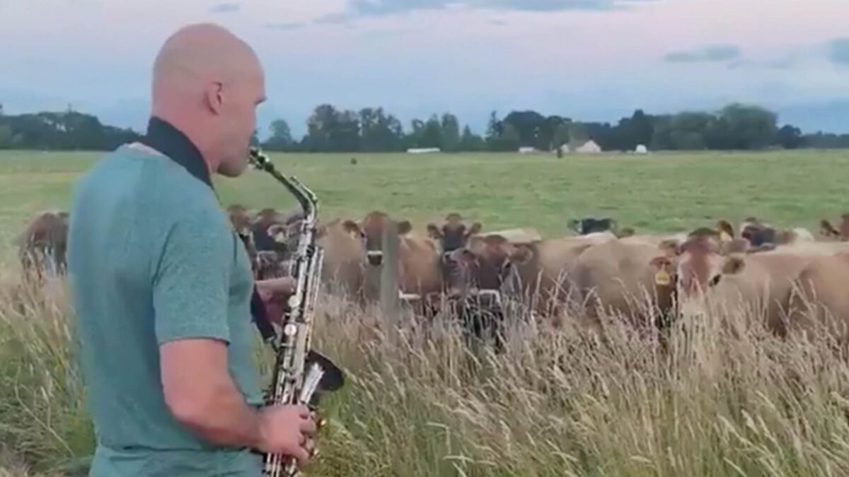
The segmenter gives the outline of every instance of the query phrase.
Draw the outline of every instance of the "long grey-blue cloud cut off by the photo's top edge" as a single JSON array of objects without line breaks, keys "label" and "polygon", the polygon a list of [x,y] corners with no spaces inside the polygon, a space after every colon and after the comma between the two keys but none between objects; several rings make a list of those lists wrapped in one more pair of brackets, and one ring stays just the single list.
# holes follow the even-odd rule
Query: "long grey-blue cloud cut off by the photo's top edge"
[{"label": "long grey-blue cloud cut off by the photo's top edge", "polygon": [[619,8],[621,3],[652,1],[655,0],[351,0],[349,10],[354,16],[378,16],[464,5],[469,8],[556,12],[561,10],[606,10]]}]

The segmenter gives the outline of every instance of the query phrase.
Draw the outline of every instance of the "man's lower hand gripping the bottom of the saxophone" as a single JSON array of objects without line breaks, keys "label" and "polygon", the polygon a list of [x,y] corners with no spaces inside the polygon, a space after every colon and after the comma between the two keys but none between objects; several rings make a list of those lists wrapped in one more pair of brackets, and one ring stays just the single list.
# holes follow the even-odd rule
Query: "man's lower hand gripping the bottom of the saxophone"
[{"label": "man's lower hand gripping the bottom of the saxophone", "polygon": [[257,449],[295,457],[303,469],[312,457],[318,431],[310,410],[306,406],[265,407],[260,419]]}]

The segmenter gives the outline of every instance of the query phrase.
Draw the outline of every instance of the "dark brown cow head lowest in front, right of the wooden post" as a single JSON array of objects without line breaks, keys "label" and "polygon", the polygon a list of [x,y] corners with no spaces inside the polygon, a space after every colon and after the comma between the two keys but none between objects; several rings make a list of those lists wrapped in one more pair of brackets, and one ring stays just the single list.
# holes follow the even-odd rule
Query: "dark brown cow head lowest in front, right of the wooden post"
[{"label": "dark brown cow head lowest in front, right of the wooden post", "polygon": [[531,261],[531,246],[511,244],[500,235],[469,240],[469,244],[442,255],[449,295],[469,295],[473,290],[500,290],[511,267]]}]

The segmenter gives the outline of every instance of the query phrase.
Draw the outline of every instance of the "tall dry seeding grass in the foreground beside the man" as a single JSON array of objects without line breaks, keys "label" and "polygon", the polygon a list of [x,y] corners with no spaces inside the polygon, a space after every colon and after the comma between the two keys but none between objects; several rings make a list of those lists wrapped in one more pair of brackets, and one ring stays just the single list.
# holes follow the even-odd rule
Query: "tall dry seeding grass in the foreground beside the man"
[{"label": "tall dry seeding grass in the foreground beside the man", "polygon": [[[93,450],[70,317],[60,293],[0,303],[7,474],[46,475]],[[705,317],[661,348],[610,323],[605,340],[514,323],[496,354],[444,317],[398,324],[324,300],[316,346],[348,380],[322,403],[307,475],[849,474],[849,365],[824,337]]]}]

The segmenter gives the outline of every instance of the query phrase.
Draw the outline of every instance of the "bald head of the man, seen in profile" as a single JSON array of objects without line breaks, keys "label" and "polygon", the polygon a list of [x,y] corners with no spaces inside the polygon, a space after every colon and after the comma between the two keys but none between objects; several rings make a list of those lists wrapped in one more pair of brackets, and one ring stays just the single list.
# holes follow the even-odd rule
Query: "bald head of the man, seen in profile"
[{"label": "bald head of the man, seen in profile", "polygon": [[188,25],[169,36],[153,68],[152,114],[200,149],[211,171],[244,170],[264,75],[253,49],[219,25]]}]

